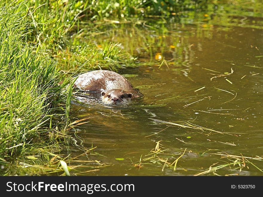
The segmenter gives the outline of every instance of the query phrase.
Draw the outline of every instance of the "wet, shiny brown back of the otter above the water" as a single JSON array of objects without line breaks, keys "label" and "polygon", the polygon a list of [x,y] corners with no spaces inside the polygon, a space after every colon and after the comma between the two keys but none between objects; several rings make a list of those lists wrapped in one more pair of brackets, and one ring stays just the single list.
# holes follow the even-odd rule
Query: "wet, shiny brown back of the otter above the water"
[{"label": "wet, shiny brown back of the otter above the water", "polygon": [[121,89],[135,93],[132,84],[118,73],[109,70],[94,70],[79,75],[74,86],[84,91]]}]

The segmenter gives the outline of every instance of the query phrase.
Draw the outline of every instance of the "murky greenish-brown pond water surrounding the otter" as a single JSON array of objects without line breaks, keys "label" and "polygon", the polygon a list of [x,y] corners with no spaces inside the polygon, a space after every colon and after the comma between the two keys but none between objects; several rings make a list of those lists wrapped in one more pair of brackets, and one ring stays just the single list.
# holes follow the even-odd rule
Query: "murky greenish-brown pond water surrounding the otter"
[{"label": "murky greenish-brown pond water surrounding the otter", "polygon": [[[212,25],[159,32],[124,25],[103,35],[143,62],[120,73],[144,97],[123,109],[72,106],[73,121],[91,117],[70,131],[77,144],[97,147],[81,159],[108,165],[83,175],[195,175],[235,161],[215,173],[263,175],[255,160],[263,156],[262,36],[261,29]],[[187,122],[210,130],[171,124]]]}]

